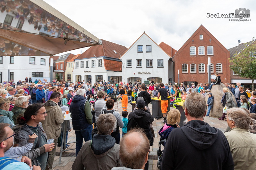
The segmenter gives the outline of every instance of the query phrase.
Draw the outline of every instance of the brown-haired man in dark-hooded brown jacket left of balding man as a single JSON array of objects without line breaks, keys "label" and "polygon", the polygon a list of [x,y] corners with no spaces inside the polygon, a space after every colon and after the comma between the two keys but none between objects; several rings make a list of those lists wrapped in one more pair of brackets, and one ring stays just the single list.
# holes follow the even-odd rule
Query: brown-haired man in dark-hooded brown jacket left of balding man
[{"label": "brown-haired man in dark-hooded brown jacket left of balding man", "polygon": [[119,157],[119,144],[115,143],[110,134],[116,128],[116,118],[113,114],[102,114],[98,119],[98,134],[91,141],[85,142],[72,165],[72,169],[105,170],[122,166]]}]

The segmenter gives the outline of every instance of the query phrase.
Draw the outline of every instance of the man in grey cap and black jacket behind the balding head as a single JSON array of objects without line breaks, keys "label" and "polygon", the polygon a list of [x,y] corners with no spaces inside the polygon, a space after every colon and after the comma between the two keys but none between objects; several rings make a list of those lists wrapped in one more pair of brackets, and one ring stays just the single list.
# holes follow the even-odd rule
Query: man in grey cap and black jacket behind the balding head
[{"label": "man in grey cap and black jacket behind the balding head", "polygon": [[[150,124],[154,121],[153,116],[145,107],[144,100],[137,100],[136,110],[131,112],[128,116],[127,133],[133,128],[144,129],[146,136],[150,142],[150,146],[154,144],[154,137],[150,128]],[[148,162],[144,169],[148,169]]]}]

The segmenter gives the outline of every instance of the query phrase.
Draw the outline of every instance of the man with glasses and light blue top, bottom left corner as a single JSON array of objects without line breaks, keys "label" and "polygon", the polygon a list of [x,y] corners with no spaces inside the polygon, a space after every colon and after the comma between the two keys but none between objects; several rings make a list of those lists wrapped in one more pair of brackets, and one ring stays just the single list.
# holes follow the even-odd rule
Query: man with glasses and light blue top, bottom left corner
[{"label": "man with glasses and light blue top, bottom left corner", "polygon": [[[0,123],[0,169],[11,170],[11,169],[23,169],[30,170],[31,160],[22,156],[21,162],[4,157],[4,153],[13,146],[15,133],[10,128],[8,123]],[[41,170],[40,166],[33,166],[33,170]]]}]

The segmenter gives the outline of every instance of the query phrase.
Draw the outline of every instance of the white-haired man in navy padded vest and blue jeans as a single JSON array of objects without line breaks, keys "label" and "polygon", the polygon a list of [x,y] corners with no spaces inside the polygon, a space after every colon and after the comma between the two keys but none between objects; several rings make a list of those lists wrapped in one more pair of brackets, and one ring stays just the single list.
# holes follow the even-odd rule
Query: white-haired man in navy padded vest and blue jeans
[{"label": "white-haired man in navy padded vest and blue jeans", "polygon": [[92,109],[85,96],[84,89],[77,90],[69,107],[76,133],[76,155],[83,145],[83,139],[85,142],[92,140]]}]

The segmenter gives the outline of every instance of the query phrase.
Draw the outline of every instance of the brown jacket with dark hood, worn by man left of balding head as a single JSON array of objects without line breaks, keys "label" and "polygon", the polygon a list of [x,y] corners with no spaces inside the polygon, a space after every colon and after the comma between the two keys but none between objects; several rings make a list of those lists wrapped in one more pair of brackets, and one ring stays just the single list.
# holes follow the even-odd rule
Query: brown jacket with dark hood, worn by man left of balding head
[{"label": "brown jacket with dark hood, worn by man left of balding head", "polygon": [[111,135],[95,134],[92,140],[85,142],[72,165],[72,169],[111,170],[122,166],[119,156],[119,144]]}]

